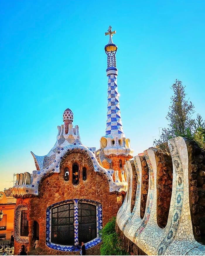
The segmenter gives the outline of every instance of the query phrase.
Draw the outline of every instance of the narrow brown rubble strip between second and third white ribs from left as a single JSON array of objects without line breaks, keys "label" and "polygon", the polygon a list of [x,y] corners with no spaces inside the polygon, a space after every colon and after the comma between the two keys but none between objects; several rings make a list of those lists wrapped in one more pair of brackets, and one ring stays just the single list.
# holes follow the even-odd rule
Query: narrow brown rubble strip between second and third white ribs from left
[{"label": "narrow brown rubble strip between second and third white ribs from left", "polygon": [[149,183],[149,169],[145,159],[145,156],[139,157],[142,168],[142,187],[141,187],[141,202],[140,202],[140,217],[144,217],[146,202],[147,202],[147,193],[148,193],[148,183]]}]

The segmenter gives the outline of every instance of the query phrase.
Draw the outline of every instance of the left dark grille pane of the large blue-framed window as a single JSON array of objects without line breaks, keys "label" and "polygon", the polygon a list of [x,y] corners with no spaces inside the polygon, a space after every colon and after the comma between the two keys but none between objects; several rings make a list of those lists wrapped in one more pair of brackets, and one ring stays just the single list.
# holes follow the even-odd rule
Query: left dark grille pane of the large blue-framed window
[{"label": "left dark grille pane of the large blue-framed window", "polygon": [[52,209],[51,242],[74,245],[74,203]]}]

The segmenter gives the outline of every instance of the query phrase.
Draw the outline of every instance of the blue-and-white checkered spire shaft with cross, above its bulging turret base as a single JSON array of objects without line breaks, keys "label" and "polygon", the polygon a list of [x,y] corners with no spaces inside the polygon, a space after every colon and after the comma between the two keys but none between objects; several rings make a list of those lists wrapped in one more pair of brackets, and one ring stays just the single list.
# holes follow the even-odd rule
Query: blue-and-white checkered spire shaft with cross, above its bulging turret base
[{"label": "blue-and-white checkered spire shaft with cross, above its bulging turret base", "polygon": [[109,35],[109,42],[105,45],[105,53],[107,54],[107,77],[108,77],[108,97],[107,97],[107,124],[106,135],[114,137],[125,137],[122,127],[122,120],[119,108],[119,94],[117,91],[117,68],[115,54],[117,52],[117,45],[113,43],[112,36],[116,34],[116,31],[112,31],[112,27],[109,26],[108,32],[105,35]]}]

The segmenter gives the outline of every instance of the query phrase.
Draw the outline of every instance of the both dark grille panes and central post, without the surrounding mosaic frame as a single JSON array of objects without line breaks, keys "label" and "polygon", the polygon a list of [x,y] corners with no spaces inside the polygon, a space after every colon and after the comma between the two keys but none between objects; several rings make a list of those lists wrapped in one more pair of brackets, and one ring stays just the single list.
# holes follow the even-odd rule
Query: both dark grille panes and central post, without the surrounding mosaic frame
[{"label": "both dark grille panes and central post, without the surrounding mosaic frame", "polygon": [[96,216],[96,205],[78,202],[78,200],[75,201],[75,205],[71,201],[52,208],[50,241],[58,245],[76,245],[76,237],[79,244],[95,239],[97,237]]}]

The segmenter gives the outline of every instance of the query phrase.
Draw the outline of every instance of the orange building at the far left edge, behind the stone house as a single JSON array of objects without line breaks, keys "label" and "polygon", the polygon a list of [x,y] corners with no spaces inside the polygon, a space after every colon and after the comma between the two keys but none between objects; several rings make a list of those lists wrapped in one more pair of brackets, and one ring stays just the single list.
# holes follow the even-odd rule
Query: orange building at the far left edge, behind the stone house
[{"label": "orange building at the far left edge, behind the stone house", "polygon": [[[13,232],[14,208],[16,198],[13,198],[10,192],[12,188],[0,192],[0,212],[3,212],[3,218],[0,221],[0,240],[10,240]],[[5,194],[6,192],[6,194]],[[8,196],[7,196],[8,195]]]}]

